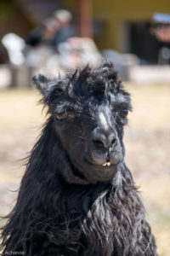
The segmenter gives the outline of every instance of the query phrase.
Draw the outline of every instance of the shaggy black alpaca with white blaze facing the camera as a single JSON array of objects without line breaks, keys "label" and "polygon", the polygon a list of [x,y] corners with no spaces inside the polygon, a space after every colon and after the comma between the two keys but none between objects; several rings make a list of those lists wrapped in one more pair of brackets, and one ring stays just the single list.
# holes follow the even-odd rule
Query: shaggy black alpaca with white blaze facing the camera
[{"label": "shaggy black alpaca with white blaze facing the camera", "polygon": [[50,116],[3,229],[3,255],[157,255],[124,163],[131,103],[113,65],[33,81]]}]

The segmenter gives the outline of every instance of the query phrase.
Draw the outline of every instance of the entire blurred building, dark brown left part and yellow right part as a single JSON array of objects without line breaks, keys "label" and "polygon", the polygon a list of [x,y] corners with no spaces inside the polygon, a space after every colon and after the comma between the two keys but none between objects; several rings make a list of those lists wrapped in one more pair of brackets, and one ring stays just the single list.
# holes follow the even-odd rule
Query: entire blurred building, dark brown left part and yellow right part
[{"label": "entire blurred building, dark brown left part and yellow right part", "polygon": [[[0,0],[0,38],[8,32],[25,38],[31,28],[41,24],[56,9],[70,9],[78,24],[81,2],[88,3],[88,15],[93,20],[94,40],[99,49],[133,53],[139,56],[141,63],[156,64],[160,49],[170,47],[150,33],[152,15],[170,11],[167,0]],[[0,62],[6,58],[0,45]]]}]

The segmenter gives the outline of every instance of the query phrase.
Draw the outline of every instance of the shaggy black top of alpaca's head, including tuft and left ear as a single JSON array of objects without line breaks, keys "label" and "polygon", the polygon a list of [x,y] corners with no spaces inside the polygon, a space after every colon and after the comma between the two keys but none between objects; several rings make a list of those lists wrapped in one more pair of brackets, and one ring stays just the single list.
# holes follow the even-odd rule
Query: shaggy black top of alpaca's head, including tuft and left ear
[{"label": "shaggy black top of alpaca's head, including tuft and left ear", "polygon": [[[64,77],[49,80],[41,74],[32,78],[37,89],[41,91],[43,102],[50,105],[55,96],[68,95],[99,95],[107,92],[122,90],[122,81],[118,78],[116,69],[111,61],[105,61],[99,67],[84,67],[75,73],[66,73]],[[54,96],[53,96],[54,93]]]}]

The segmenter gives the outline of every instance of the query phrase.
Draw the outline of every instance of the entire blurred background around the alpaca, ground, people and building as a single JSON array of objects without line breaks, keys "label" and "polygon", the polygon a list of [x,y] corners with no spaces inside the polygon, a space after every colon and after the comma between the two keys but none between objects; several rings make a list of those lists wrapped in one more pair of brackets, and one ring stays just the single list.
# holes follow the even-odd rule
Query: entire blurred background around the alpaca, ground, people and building
[{"label": "entire blurred background around the alpaca, ground, people and building", "polygon": [[[131,93],[127,166],[158,253],[170,255],[170,2],[0,0],[0,215],[25,172],[21,159],[45,121],[34,73],[49,78],[113,61]],[[1,221],[0,225],[3,225]]]}]

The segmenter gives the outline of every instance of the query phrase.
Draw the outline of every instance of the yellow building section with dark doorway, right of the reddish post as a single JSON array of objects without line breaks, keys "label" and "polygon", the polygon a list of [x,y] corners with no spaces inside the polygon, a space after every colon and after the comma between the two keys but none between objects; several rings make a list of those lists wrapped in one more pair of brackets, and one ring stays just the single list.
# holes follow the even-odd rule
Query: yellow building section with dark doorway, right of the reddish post
[{"label": "yellow building section with dark doorway, right of the reddish post", "polygon": [[[66,0],[73,11],[77,0]],[[152,15],[170,13],[170,1],[92,0],[94,39],[99,49],[138,55],[144,64],[156,64],[159,50],[170,44],[150,34]]]}]

